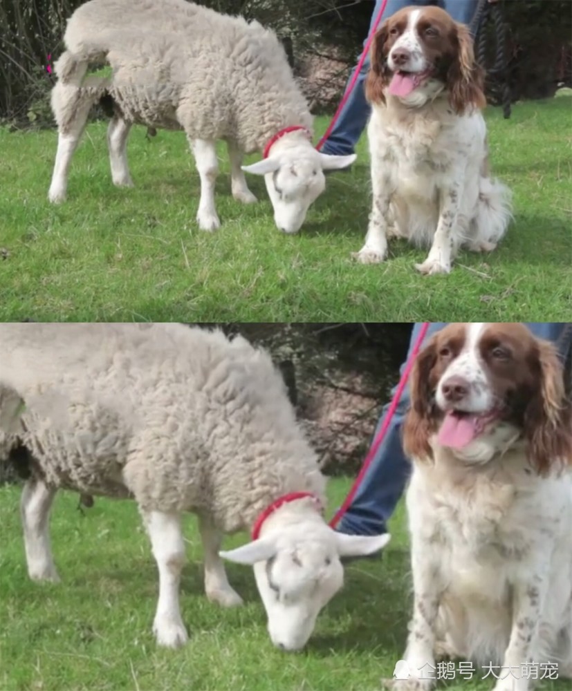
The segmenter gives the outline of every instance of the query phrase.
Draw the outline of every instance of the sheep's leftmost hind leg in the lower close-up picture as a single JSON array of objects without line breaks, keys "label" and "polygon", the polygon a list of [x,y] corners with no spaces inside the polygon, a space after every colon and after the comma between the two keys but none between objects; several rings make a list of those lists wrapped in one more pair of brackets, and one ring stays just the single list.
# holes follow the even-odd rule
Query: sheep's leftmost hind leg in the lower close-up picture
[{"label": "sheep's leftmost hind leg in the lower close-up picture", "polygon": [[55,493],[55,489],[50,489],[42,480],[35,477],[26,482],[22,491],[20,513],[24,527],[26,562],[28,574],[33,580],[59,581],[48,531],[50,508]]}]

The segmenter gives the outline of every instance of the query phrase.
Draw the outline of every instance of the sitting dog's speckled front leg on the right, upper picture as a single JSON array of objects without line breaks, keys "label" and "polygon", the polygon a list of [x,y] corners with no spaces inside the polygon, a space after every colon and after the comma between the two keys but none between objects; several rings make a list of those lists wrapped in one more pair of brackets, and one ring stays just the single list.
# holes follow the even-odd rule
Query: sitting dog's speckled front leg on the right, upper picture
[{"label": "sitting dog's speckled front leg on the right, upper picture", "polygon": [[462,173],[452,175],[451,179],[450,187],[441,191],[441,213],[429,255],[423,264],[415,265],[422,274],[448,274],[456,254],[454,226],[459,211]]}]

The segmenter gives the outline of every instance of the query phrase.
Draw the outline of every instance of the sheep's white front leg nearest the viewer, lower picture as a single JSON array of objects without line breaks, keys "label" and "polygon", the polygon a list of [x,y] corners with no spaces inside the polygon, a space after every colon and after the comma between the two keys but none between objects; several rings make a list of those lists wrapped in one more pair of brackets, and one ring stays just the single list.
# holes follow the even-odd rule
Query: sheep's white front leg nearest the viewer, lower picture
[{"label": "sheep's white front leg nearest the viewer, lower picture", "polygon": [[181,619],[178,589],[185,563],[181,516],[163,511],[142,512],[159,571],[159,599],[153,632],[159,645],[179,647],[189,639]]}]

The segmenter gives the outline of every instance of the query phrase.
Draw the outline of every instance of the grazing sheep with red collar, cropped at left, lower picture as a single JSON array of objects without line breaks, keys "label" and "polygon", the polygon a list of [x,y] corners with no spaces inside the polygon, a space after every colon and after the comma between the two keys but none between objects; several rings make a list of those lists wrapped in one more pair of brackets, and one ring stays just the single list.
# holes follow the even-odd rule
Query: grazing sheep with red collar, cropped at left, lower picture
[{"label": "grazing sheep with red collar, cropped at left, lower picture", "polygon": [[[48,537],[57,489],[134,498],[159,571],[162,645],[187,640],[178,603],[183,511],[199,517],[207,597],[241,603],[221,556],[253,565],[270,637],[286,650],[306,644],[342,586],[340,557],[389,540],[324,522],[324,476],[282,377],[266,352],[219,331],[0,324],[0,459],[21,447],[30,459],[21,499],[30,577],[58,578]],[[252,541],[219,552],[223,533],[241,530]]]}]

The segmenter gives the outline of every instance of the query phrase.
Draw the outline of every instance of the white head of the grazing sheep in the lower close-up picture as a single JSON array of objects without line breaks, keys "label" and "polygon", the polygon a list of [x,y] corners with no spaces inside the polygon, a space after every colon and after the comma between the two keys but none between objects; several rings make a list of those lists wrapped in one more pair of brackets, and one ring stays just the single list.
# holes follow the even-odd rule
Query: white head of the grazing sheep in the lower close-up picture
[{"label": "white head of the grazing sheep in the lower close-up picture", "polygon": [[258,540],[220,554],[254,567],[270,638],[276,647],[294,651],[306,645],[320,610],[344,583],[340,558],[379,551],[390,536],[344,535],[321,519],[280,523]]}]

